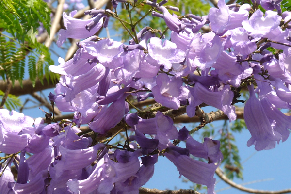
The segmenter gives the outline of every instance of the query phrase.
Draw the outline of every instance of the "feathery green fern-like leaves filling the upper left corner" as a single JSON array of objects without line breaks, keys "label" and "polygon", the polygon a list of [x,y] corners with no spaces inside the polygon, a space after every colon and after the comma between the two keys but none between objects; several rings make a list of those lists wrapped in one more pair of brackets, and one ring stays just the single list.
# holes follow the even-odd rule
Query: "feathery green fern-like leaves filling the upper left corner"
[{"label": "feathery green fern-like leaves filling the upper left corner", "polygon": [[[36,41],[38,28],[48,33],[50,9],[42,0],[2,0],[0,2],[0,74],[14,84],[28,70],[33,84],[45,75],[49,81],[49,65],[53,65],[49,49]],[[28,68],[25,65],[28,64]]]}]

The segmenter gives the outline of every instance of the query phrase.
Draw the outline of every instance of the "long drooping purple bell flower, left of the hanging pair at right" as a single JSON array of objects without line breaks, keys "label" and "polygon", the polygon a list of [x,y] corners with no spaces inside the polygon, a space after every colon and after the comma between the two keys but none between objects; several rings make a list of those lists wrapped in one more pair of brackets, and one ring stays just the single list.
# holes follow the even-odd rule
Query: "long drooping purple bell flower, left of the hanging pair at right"
[{"label": "long drooping purple bell flower, left of the hanging pair at right", "polygon": [[271,126],[263,106],[255,96],[254,86],[248,86],[250,98],[244,106],[244,121],[252,137],[247,141],[247,146],[255,145],[257,151],[272,149],[281,139],[281,134]]}]

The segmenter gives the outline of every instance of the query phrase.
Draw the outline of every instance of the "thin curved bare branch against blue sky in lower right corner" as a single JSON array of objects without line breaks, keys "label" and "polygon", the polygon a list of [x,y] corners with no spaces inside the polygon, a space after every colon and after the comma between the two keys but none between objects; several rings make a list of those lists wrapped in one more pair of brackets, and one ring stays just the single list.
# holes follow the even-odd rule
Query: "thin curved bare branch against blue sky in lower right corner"
[{"label": "thin curved bare branch against blue sky in lower right corner", "polygon": [[253,194],[287,194],[287,193],[291,193],[291,188],[280,190],[280,191],[268,191],[268,190],[257,190],[257,189],[250,189],[247,187],[243,187],[242,185],[239,185],[239,184],[233,182],[232,180],[228,179],[223,174],[222,170],[219,167],[216,169],[215,173],[219,178],[221,178],[223,181],[225,181],[230,186],[232,186],[236,189],[239,189],[241,191],[248,192],[248,193],[253,193]]}]

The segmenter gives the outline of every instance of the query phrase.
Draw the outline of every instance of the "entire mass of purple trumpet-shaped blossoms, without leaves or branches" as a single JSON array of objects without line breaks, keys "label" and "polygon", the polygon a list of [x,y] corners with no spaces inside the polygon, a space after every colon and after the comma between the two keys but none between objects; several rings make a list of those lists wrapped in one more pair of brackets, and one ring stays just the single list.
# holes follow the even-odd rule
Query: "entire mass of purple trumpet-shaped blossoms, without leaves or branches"
[{"label": "entire mass of purple trumpet-shaped blossoms, without leaves or branches", "polygon": [[[113,0],[113,5],[118,2],[129,3]],[[40,118],[33,121],[0,110],[0,151],[20,153],[0,171],[1,194],[138,194],[152,177],[159,155],[213,194],[214,172],[222,160],[220,142],[208,137],[197,142],[186,127],[178,130],[165,112],[129,113],[129,96],[138,101],[152,97],[166,110],[187,107],[189,117],[205,103],[234,121],[234,104],[247,87],[244,119],[252,135],[247,146],[271,149],[288,138],[291,117],[278,108],[291,109],[290,12],[280,15],[279,1],[261,0],[267,10],[263,13],[249,4],[219,0],[218,9],[211,8],[208,16],[178,17],[169,13],[165,2],[146,1],[153,7],[152,16],[163,18],[171,30],[171,41],[162,40],[163,34],[150,27],[129,44],[100,39],[92,35],[115,13],[90,10],[85,13],[93,16],[89,20],[74,19],[76,11],[63,14],[66,30],[60,31],[57,44],[66,38],[84,40],[72,59],[60,58],[60,65],[49,67],[62,75],[49,100],[63,112],[74,112],[74,120],[45,125]],[[258,0],[253,3],[256,7]],[[199,32],[203,26],[211,32]],[[81,125],[95,138],[81,133]],[[131,130],[124,146],[102,141],[115,128]],[[185,141],[186,148],[177,141]],[[33,155],[26,158],[26,152]],[[12,163],[17,182],[9,168]]]}]

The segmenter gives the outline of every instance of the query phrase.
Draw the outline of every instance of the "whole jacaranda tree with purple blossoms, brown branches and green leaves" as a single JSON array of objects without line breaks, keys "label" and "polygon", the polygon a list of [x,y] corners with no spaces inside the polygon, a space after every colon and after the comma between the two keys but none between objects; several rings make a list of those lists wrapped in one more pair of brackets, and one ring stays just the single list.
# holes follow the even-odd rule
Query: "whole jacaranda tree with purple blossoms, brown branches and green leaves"
[{"label": "whole jacaranda tree with purple blossoms, brown branches and green leaves", "polygon": [[[230,133],[200,141],[196,131],[227,119],[246,126],[257,151],[286,141],[291,3],[211,2],[1,1],[0,194],[158,194],[142,186],[161,156],[214,194],[215,172],[228,179],[225,165],[233,178],[239,155]],[[122,41],[98,36],[110,25]],[[66,45],[59,64],[51,44]],[[49,101],[35,93],[51,86]],[[41,101],[46,118],[11,111],[22,94]],[[194,129],[174,124],[190,120]]]}]

